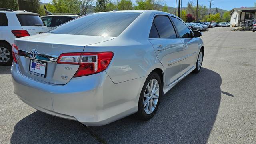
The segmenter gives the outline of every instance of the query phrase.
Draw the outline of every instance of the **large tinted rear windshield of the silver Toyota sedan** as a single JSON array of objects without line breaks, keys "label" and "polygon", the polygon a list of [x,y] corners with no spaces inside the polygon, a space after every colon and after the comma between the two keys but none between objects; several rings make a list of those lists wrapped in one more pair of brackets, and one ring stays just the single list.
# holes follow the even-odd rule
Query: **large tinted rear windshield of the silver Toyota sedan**
[{"label": "large tinted rear windshield of the silver Toyota sedan", "polygon": [[87,36],[118,36],[140,13],[96,13],[82,16],[50,30],[54,34],[75,34]]}]

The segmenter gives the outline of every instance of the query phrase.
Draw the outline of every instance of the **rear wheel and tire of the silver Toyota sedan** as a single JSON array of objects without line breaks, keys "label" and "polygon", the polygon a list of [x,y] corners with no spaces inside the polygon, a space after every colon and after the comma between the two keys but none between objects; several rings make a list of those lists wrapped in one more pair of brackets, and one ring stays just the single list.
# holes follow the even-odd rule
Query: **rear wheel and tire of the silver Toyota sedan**
[{"label": "rear wheel and tire of the silver Toyota sedan", "polygon": [[[154,87],[155,87],[155,90],[158,87],[158,90],[155,92],[152,92],[152,91],[149,92],[150,90],[154,90],[153,89]],[[157,98],[157,94],[158,94],[158,98]],[[150,73],[140,93],[138,112],[136,113],[136,116],[140,120],[144,120],[144,121],[150,120],[150,118],[152,118],[156,114],[162,94],[163,94],[163,86],[161,83],[160,76],[156,72]],[[150,105],[151,105],[151,108],[150,108]]]}]

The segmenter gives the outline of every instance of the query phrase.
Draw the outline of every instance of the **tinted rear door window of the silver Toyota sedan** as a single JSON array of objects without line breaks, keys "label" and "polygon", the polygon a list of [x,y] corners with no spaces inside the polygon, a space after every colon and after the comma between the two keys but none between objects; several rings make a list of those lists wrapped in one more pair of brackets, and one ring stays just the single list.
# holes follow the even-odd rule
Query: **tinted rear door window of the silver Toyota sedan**
[{"label": "tinted rear door window of the silver Toyota sedan", "polygon": [[175,30],[168,16],[156,16],[153,23],[160,38],[176,38]]}]

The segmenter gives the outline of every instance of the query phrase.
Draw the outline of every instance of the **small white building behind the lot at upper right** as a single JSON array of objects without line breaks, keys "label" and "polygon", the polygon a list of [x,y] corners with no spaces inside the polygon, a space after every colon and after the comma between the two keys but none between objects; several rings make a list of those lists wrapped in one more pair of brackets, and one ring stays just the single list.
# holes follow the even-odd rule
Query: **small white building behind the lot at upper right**
[{"label": "small white building behind the lot at upper right", "polygon": [[256,7],[250,8],[233,8],[230,12],[230,26],[234,24],[234,26],[245,26],[247,22],[251,23],[254,19],[256,19]]}]

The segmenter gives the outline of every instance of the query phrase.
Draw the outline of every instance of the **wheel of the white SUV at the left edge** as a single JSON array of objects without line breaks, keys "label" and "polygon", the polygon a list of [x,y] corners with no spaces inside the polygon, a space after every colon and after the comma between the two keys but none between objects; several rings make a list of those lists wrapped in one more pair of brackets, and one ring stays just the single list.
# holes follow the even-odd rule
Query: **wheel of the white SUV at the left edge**
[{"label": "wheel of the white SUV at the left edge", "polygon": [[12,64],[12,47],[9,44],[0,42],[0,65],[9,66]]}]

